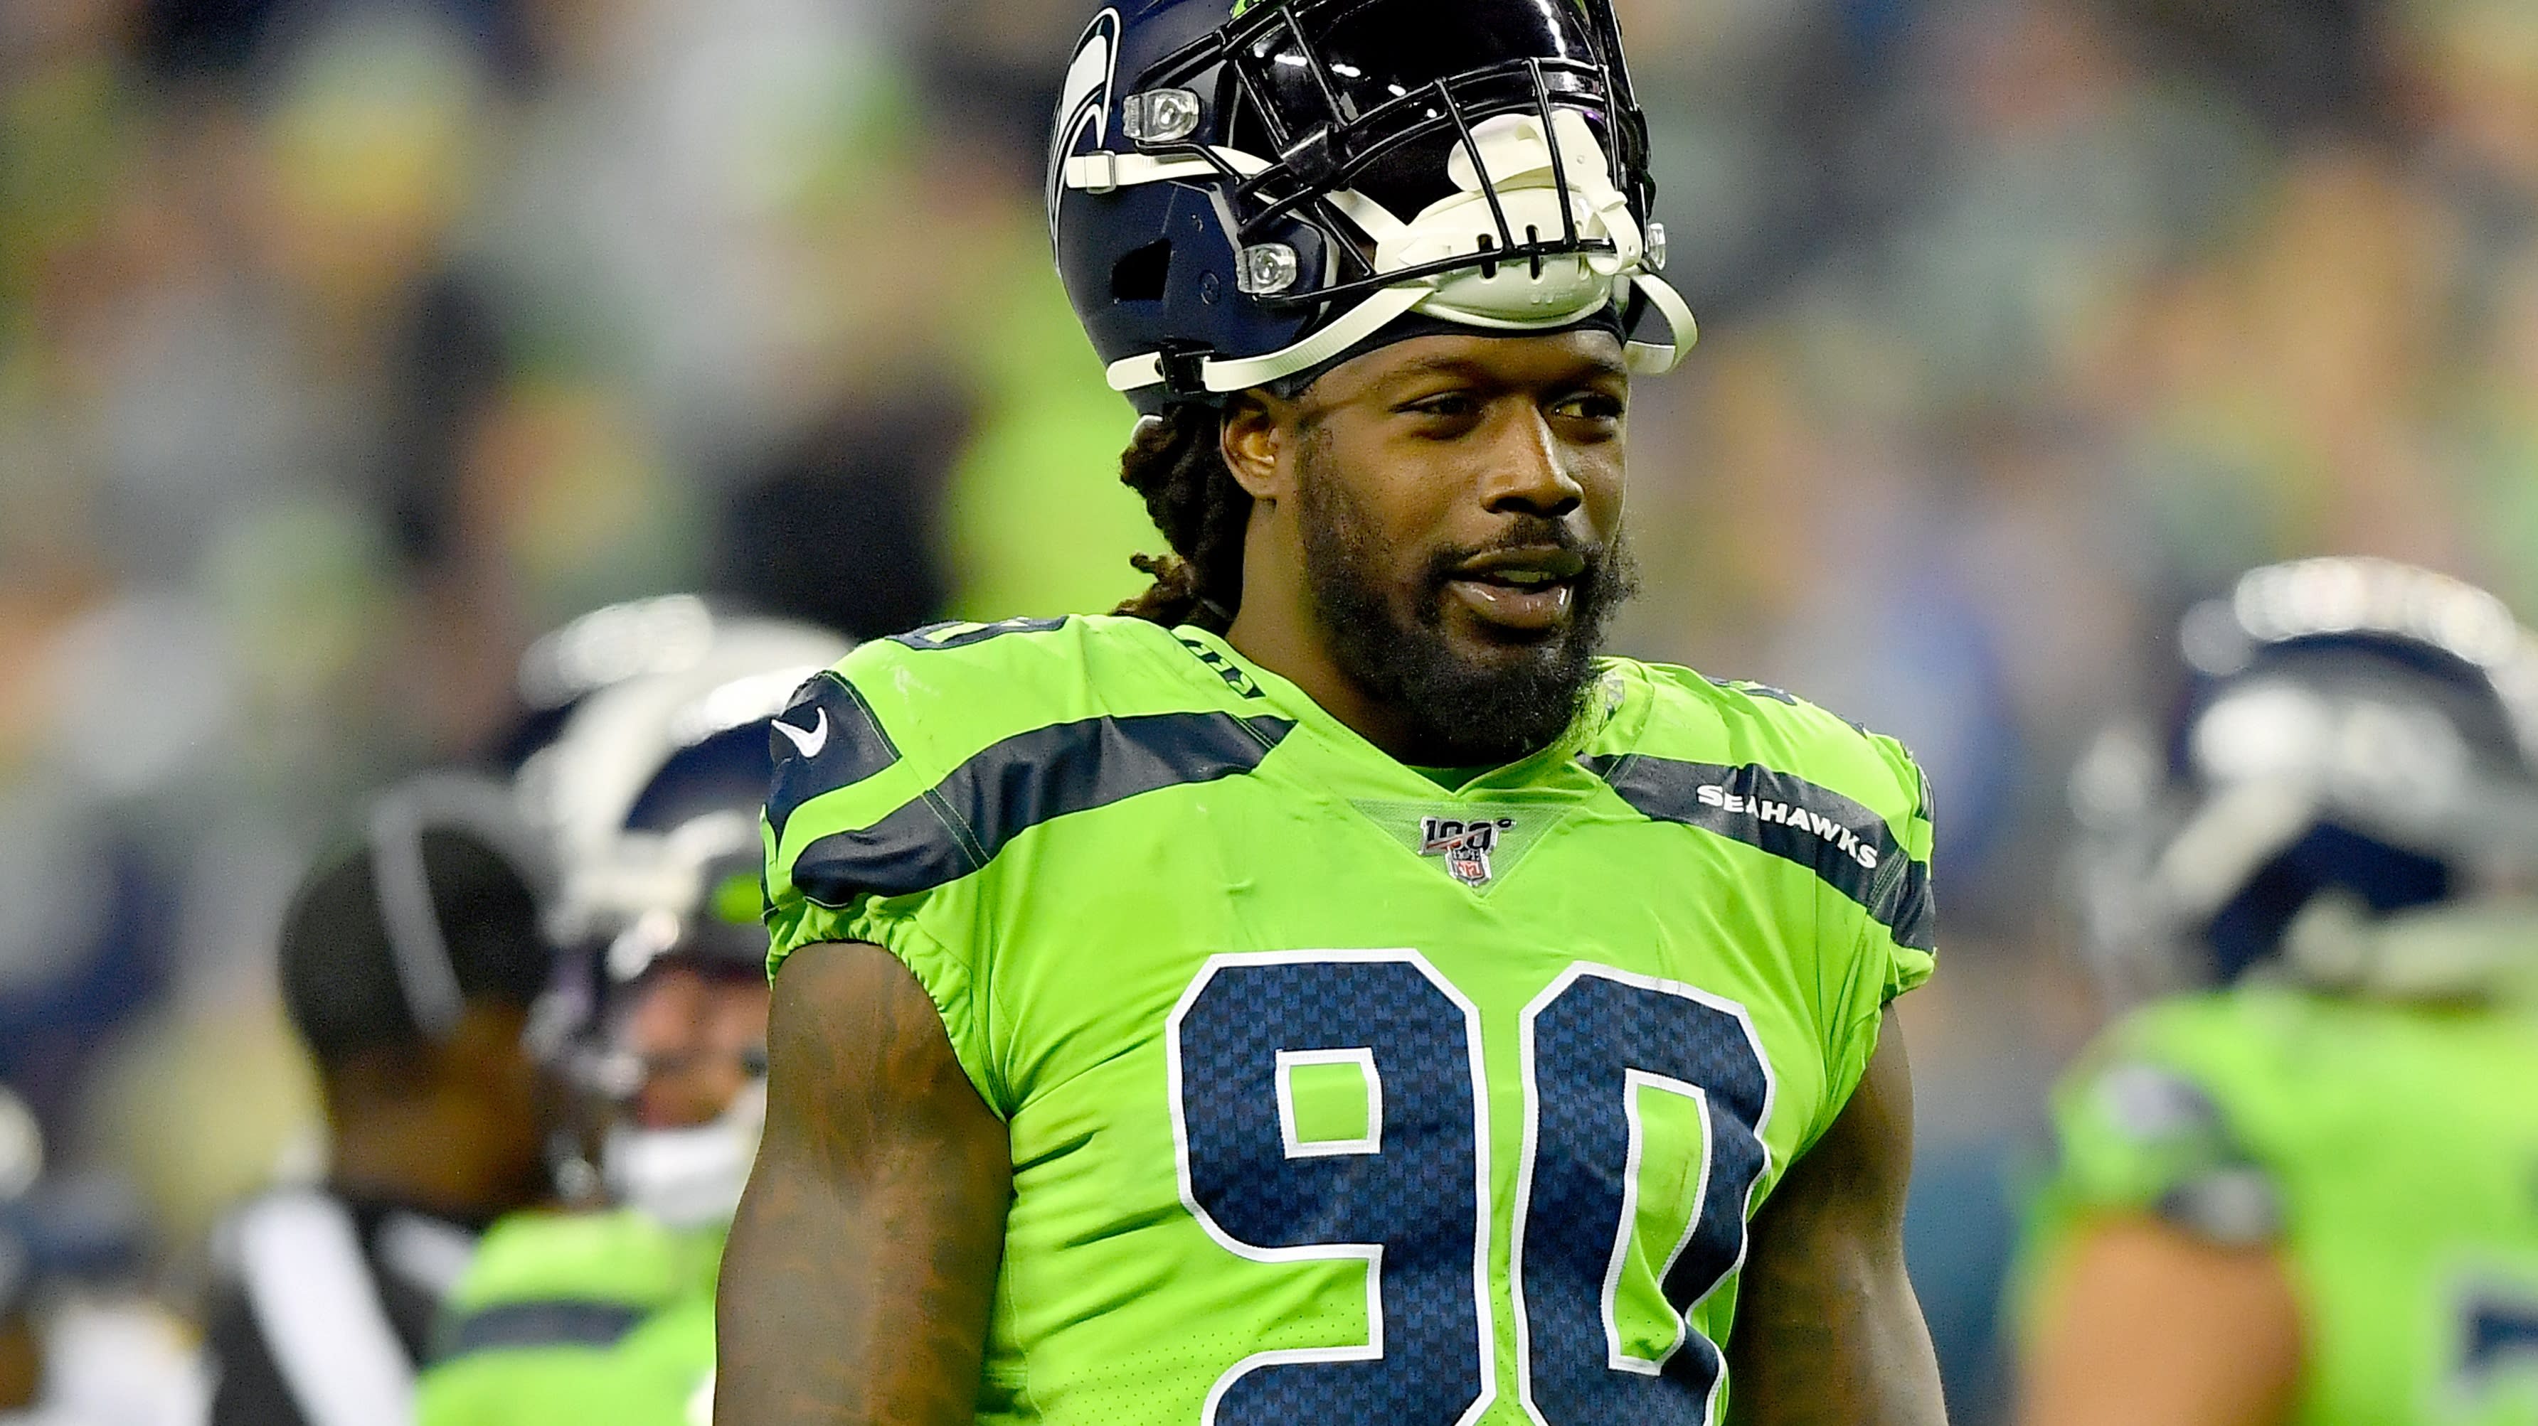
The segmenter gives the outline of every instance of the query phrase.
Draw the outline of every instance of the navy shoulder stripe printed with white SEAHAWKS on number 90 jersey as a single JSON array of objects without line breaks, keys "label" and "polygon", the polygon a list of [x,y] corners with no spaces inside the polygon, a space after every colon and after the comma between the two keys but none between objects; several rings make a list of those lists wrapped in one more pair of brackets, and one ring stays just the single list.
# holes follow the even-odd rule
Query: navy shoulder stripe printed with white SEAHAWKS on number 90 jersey
[{"label": "navy shoulder stripe printed with white SEAHAWKS on number 90 jersey", "polygon": [[1860,903],[1898,946],[1939,946],[1929,865],[1903,855],[1876,809],[1761,764],[1693,764],[1652,754],[1579,761],[1642,817],[1718,832],[1810,868]]}]

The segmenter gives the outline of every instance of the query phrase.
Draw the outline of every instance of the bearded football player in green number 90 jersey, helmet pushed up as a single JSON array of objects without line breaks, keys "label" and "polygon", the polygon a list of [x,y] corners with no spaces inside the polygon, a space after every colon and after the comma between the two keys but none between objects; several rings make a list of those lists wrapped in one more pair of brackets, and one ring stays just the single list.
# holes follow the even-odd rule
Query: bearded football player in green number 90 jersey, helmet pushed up
[{"label": "bearded football player in green number 90 jersey, helmet pushed up", "polygon": [[1599,657],[1693,340],[1609,0],[1132,0],[1063,94],[1173,553],[784,713],[718,1421],[1936,1423],[1921,771]]}]

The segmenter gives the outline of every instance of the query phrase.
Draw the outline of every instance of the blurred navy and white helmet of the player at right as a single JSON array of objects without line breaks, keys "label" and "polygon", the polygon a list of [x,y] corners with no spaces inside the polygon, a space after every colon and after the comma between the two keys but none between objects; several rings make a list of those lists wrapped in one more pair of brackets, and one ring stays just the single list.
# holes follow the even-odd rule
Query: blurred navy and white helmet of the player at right
[{"label": "blurred navy and white helmet of the player at right", "polygon": [[2449,995],[2538,962],[2538,919],[2495,896],[2538,875],[2538,639],[2500,599],[2312,558],[2246,573],[2180,644],[2165,728],[2109,728],[2071,779],[2074,891],[2122,995],[2256,967]]}]

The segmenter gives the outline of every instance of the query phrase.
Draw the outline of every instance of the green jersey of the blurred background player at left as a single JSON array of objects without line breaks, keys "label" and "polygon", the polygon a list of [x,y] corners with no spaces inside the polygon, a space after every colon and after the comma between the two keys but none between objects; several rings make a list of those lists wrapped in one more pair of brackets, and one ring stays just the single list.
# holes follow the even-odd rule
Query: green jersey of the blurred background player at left
[{"label": "green jersey of the blurred background player at left", "polygon": [[444,1307],[416,1426],[706,1426],[723,1236],[515,1213]]}]

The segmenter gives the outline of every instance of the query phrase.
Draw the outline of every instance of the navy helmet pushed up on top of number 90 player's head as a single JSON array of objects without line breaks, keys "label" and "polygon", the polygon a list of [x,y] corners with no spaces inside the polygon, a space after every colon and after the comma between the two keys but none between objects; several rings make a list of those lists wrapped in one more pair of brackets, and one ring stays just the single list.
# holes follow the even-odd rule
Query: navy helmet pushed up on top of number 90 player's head
[{"label": "navy helmet pushed up on top of number 90 player's head", "polygon": [[1612,0],[1122,0],[1061,89],[1058,274],[1145,414],[1269,386],[1404,317],[1612,320],[1673,370],[1693,315],[1650,218]]}]

